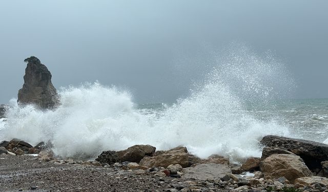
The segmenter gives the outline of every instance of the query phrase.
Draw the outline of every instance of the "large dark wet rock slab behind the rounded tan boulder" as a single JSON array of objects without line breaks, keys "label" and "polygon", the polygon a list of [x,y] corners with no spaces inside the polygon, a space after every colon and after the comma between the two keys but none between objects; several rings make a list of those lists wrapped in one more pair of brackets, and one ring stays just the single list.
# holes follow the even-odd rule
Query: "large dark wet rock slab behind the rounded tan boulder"
[{"label": "large dark wet rock slab behind the rounded tan boulder", "polygon": [[328,161],[327,144],[272,135],[263,137],[261,144],[282,148],[300,156],[311,170],[321,169],[321,162]]}]

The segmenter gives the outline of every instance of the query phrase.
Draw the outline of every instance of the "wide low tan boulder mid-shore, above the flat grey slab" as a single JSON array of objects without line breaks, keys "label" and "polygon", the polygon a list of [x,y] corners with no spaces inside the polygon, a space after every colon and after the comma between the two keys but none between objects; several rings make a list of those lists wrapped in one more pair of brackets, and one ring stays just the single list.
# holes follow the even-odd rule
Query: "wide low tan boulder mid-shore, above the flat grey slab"
[{"label": "wide low tan boulder mid-shore, above the flat grey slab", "polygon": [[163,152],[161,155],[145,157],[139,163],[139,165],[148,167],[167,167],[171,164],[180,164],[182,167],[188,167],[190,165],[186,147],[175,147]]}]

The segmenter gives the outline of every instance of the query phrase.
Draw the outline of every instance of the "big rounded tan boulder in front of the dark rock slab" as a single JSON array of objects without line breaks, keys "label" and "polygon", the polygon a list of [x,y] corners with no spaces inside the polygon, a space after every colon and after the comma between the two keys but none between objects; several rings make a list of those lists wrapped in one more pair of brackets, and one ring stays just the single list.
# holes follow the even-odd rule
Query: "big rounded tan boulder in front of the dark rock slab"
[{"label": "big rounded tan boulder in front of the dark rock slab", "polygon": [[300,157],[289,154],[274,154],[265,158],[260,163],[260,169],[267,179],[285,177],[291,183],[297,178],[312,176]]}]

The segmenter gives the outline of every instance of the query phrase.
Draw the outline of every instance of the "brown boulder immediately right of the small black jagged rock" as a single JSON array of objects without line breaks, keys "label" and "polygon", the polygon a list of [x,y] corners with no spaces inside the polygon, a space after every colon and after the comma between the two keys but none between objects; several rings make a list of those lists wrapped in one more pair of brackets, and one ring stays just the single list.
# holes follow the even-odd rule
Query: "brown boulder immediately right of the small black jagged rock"
[{"label": "brown boulder immediately right of the small black jagged rock", "polygon": [[127,150],[117,152],[118,158],[121,162],[129,161],[139,163],[144,157],[153,156],[156,147],[151,145],[134,145]]}]

